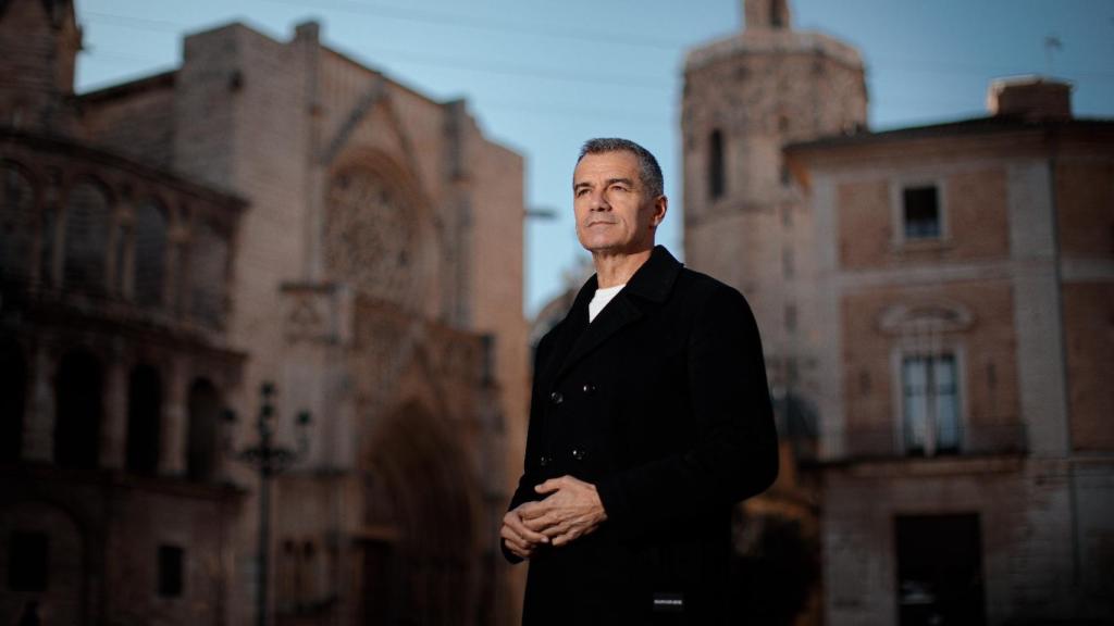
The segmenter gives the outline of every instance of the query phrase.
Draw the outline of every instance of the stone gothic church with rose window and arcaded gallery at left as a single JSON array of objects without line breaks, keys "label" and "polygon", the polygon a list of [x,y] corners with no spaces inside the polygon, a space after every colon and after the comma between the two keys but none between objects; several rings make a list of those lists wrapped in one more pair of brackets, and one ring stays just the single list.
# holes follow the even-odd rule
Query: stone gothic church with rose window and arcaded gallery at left
[{"label": "stone gothic church with rose window and arcaded gallery at left", "polygon": [[71,2],[0,3],[0,623],[254,620],[264,382],[276,624],[512,622],[521,157],[315,23],[183,46],[75,95]]}]

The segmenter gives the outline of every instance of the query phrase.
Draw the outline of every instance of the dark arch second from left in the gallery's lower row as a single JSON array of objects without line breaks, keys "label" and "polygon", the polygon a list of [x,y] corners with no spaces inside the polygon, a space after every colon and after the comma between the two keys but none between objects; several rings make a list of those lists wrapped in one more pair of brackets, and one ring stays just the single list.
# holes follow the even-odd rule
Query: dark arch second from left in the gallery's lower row
[{"label": "dark arch second from left in the gallery's lower row", "polygon": [[59,466],[97,467],[105,411],[102,385],[96,356],[80,350],[62,358],[55,384],[55,462]]}]

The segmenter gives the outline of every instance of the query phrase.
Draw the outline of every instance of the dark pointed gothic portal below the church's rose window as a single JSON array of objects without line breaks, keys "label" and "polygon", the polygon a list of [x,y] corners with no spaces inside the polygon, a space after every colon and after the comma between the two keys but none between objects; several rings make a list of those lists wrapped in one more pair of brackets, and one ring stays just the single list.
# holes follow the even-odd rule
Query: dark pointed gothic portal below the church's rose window
[{"label": "dark pointed gothic portal below the church's rose window", "polygon": [[473,623],[479,490],[458,436],[408,401],[368,441],[363,622]]}]

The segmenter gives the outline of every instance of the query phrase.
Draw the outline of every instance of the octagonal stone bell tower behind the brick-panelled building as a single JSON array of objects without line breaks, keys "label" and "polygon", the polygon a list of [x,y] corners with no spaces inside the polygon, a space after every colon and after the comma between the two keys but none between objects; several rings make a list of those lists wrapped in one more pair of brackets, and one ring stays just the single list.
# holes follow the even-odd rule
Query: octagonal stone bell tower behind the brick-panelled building
[{"label": "octagonal stone bell tower behind the brick-panelled building", "polygon": [[812,222],[782,148],[862,127],[866,79],[854,48],[793,30],[786,0],[742,8],[743,28],[685,58],[685,263],[746,295],[771,383],[802,393],[819,348]]}]

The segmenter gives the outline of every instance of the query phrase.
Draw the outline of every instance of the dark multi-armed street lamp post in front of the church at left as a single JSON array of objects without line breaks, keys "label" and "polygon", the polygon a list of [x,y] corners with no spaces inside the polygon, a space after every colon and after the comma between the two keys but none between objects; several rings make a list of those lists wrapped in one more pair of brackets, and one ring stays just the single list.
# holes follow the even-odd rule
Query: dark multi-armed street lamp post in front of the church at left
[{"label": "dark multi-armed street lamp post in front of the church at left", "polygon": [[[272,382],[264,382],[260,385],[260,417],[255,421],[255,429],[258,434],[258,442],[243,450],[233,450],[233,457],[255,468],[260,475],[260,544],[258,544],[258,571],[256,580],[258,590],[256,593],[256,608],[258,626],[267,626],[267,570],[271,556],[271,479],[289,469],[292,464],[305,457],[310,449],[309,427],[310,412],[301,411],[295,423],[297,424],[297,449],[280,446],[275,442],[274,399],[275,387]],[[225,411],[225,420],[234,423],[236,412],[232,409]]]}]

